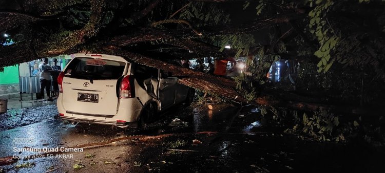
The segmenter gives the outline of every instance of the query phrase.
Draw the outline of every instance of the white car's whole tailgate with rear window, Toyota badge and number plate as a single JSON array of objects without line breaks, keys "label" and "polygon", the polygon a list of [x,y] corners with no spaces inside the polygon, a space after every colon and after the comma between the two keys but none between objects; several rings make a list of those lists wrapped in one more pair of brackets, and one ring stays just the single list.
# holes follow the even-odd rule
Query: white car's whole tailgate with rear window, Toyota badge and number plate
[{"label": "white car's whole tailgate with rear window, Toyota badge and number plate", "polygon": [[111,55],[78,56],[64,71],[63,106],[68,113],[113,116],[117,113],[118,79],[129,63]]}]

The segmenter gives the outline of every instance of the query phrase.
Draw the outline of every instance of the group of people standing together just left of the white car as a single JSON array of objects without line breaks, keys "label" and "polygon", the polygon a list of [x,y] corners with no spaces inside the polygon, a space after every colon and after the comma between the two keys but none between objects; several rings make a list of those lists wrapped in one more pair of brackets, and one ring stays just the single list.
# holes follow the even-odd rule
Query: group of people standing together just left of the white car
[{"label": "group of people standing together just left of the white car", "polygon": [[57,77],[59,77],[59,74],[62,71],[62,68],[60,66],[57,66],[56,58],[54,58],[52,61],[54,62],[54,65],[51,67],[48,64],[48,58],[44,58],[44,62],[38,65],[37,72],[35,72],[35,70],[32,72],[32,75],[35,73],[35,74],[38,74],[39,76],[40,96],[42,99],[44,99],[44,89],[45,89],[48,100],[52,100],[51,93],[50,93],[51,81],[52,81],[52,87],[53,87],[53,96],[54,97],[59,96],[59,85],[57,84]]}]

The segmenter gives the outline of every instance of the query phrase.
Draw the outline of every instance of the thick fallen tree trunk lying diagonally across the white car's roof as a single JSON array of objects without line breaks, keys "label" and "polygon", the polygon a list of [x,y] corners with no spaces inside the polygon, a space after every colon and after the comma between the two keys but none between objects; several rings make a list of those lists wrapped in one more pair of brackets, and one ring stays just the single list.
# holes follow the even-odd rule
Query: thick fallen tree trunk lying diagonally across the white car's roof
[{"label": "thick fallen tree trunk lying diagonally across the white car's roof", "polygon": [[[144,66],[158,68],[167,72],[171,72],[172,74],[180,78],[178,82],[181,84],[200,90],[205,90],[210,93],[214,93],[219,96],[223,96],[228,99],[232,99],[239,102],[263,106],[288,107],[291,109],[304,111],[330,110],[337,113],[349,113],[359,115],[377,113],[376,111],[369,112],[368,110],[356,106],[338,106],[322,103],[301,102],[295,101],[296,99],[290,99],[290,97],[282,99],[279,97],[268,95],[266,93],[257,97],[254,100],[247,100],[235,90],[235,81],[232,79],[193,71],[191,69],[175,66],[174,64],[134,54],[125,50],[111,49],[111,47],[104,48],[104,50],[109,54],[123,56],[133,62],[143,64]],[[293,96],[291,97],[296,98],[299,96],[293,94]]]}]

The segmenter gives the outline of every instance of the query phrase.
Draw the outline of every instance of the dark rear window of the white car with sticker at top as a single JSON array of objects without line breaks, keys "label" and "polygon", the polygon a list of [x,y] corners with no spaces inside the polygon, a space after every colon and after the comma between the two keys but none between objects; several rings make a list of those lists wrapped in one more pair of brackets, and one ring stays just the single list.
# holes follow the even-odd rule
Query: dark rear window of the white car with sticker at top
[{"label": "dark rear window of the white car with sticker at top", "polygon": [[126,62],[99,58],[76,57],[64,75],[77,79],[118,79],[123,75]]}]

